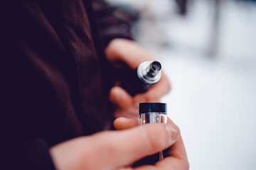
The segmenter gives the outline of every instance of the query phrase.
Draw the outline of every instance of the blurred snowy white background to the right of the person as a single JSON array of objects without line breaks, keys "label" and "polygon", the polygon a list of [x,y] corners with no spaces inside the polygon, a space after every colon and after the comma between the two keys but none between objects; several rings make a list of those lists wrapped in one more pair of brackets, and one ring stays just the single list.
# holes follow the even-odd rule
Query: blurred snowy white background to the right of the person
[{"label": "blurred snowy white background to the right of the person", "polygon": [[256,2],[108,0],[139,12],[137,41],[163,64],[163,98],[191,170],[256,169]]}]

